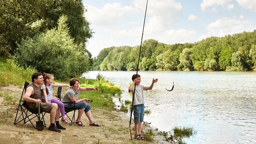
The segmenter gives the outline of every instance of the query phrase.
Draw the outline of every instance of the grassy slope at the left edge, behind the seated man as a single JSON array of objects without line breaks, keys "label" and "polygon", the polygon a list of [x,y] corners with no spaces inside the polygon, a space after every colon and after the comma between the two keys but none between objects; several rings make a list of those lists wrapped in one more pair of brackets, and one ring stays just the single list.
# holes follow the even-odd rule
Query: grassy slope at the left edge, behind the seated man
[{"label": "grassy slope at the left edge, behind the seated man", "polygon": [[13,60],[0,57],[0,86],[13,84],[21,88],[25,81],[31,82],[31,75],[34,72],[36,72],[34,68],[24,69],[16,65]]}]

